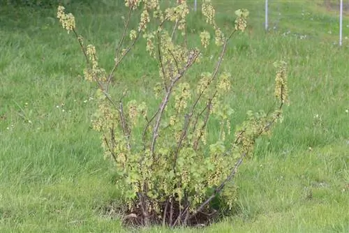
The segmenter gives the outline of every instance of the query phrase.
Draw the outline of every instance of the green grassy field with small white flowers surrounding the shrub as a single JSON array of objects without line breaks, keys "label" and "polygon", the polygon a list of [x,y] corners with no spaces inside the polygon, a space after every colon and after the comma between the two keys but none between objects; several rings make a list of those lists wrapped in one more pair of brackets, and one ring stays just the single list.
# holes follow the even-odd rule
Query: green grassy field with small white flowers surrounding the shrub
[{"label": "green grassy field with small white flowers surrounding the shrub", "polygon": [[[123,24],[122,4],[112,2],[67,7],[105,68],[112,67]],[[348,15],[339,47],[338,16],[323,1],[274,1],[268,33],[263,1],[217,2],[224,27],[237,8],[251,15],[223,64],[233,74],[232,126],[247,110],[272,105],[272,63],[279,59],[289,64],[290,106],[240,169],[237,215],[205,230],[174,232],[349,232]],[[80,48],[55,13],[0,8],[0,232],[131,232],[114,218],[112,165],[90,127],[95,87],[83,80]],[[189,20],[196,31],[197,17]],[[154,72],[138,47],[121,66],[117,90],[154,101]]]}]

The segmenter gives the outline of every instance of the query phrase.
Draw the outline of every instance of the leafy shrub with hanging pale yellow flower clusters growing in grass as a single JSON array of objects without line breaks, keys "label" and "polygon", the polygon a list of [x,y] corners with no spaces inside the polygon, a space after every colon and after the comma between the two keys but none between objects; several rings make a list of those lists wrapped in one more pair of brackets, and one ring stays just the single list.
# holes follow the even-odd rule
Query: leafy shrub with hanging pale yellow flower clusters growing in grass
[{"label": "leafy shrub with hanging pale yellow flower clusters growing in grass", "polygon": [[[225,207],[234,206],[235,186],[231,181],[237,168],[253,153],[255,140],[269,133],[281,119],[281,108],[287,100],[285,63],[274,63],[275,110],[269,114],[248,112],[248,119],[231,134],[233,110],[223,101],[231,88],[231,75],[220,69],[230,39],[246,29],[248,11],[237,10],[233,29],[225,34],[216,24],[214,7],[204,1],[202,14],[208,29],[198,35],[202,44],[199,48],[190,47],[186,40],[186,1],[177,1],[164,10],[158,0],[125,2],[128,16],[110,73],[99,66],[96,48],[84,46],[82,36],[75,31],[73,15],[59,6],[57,17],[80,43],[87,61],[85,79],[98,84],[99,104],[93,126],[101,132],[105,156],[115,164],[126,219],[140,225],[171,227],[206,224]],[[129,29],[138,10],[138,28]],[[214,31],[213,36],[209,31]],[[125,45],[126,36],[131,39],[129,45]],[[218,62],[211,72],[205,71],[196,82],[188,82],[188,70],[195,63],[211,62],[205,50],[211,36],[221,50]],[[126,93],[116,98],[110,91],[119,64],[142,38],[147,42],[144,49],[158,63],[156,109],[148,109],[150,100],[125,104]],[[218,133],[211,134],[208,126],[217,122]]]}]

